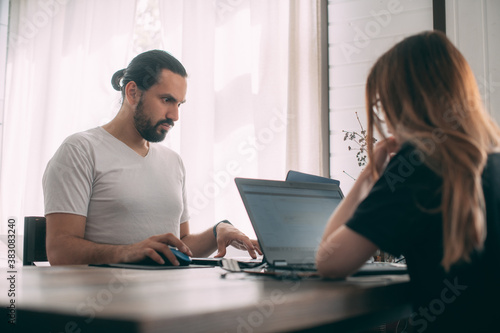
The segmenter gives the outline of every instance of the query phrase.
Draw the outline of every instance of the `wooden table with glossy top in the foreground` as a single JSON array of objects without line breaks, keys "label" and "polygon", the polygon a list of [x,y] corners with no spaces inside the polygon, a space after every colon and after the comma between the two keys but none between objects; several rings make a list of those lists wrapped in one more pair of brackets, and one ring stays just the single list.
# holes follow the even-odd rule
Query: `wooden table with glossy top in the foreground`
[{"label": "wooden table with glossy top in the foreground", "polygon": [[[0,332],[336,332],[408,316],[408,276],[283,280],[220,268],[1,270]],[[9,297],[9,277],[15,296]],[[7,323],[14,300],[16,324]],[[4,327],[6,329],[4,329]],[[323,326],[324,328],[324,326]]]}]

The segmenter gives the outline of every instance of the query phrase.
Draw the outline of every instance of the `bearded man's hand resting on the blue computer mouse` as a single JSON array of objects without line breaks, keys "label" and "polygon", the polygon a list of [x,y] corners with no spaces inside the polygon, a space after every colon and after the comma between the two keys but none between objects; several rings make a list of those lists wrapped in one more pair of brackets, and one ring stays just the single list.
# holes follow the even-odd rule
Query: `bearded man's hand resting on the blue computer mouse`
[{"label": "bearded man's hand resting on the blue computer mouse", "polygon": [[174,266],[178,266],[179,261],[174,256],[172,251],[170,251],[168,245],[178,248],[179,251],[187,254],[188,256],[193,255],[189,247],[184,244],[183,241],[177,238],[174,234],[168,233],[151,236],[141,242],[126,245],[120,262],[138,262],[149,257],[159,264],[164,264],[165,261],[159,254],[163,253]]}]

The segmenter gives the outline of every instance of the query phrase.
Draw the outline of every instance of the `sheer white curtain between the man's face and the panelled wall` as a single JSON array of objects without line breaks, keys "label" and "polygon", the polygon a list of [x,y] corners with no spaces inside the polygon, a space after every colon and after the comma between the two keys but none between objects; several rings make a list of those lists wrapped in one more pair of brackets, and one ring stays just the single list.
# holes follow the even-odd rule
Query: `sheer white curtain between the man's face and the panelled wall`
[{"label": "sheer white curtain between the man's face and the panelled wall", "polygon": [[160,1],[163,47],[187,68],[179,152],[191,225],[253,235],[234,177],[321,174],[319,1]]}]

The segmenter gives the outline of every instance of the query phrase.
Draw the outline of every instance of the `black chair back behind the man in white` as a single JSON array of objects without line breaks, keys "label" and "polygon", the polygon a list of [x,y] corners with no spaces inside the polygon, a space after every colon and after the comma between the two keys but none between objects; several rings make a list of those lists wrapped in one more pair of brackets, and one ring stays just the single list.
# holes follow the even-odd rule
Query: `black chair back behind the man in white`
[{"label": "black chair back behind the man in white", "polygon": [[35,261],[48,261],[45,248],[45,217],[24,218],[23,266],[34,265]]}]

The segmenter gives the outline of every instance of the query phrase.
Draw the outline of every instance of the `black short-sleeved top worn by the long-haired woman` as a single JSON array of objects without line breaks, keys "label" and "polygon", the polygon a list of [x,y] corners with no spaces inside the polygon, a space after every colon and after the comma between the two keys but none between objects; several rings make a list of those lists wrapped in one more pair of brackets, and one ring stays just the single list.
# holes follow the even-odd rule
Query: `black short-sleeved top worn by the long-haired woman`
[{"label": "black short-sleeved top worn by the long-haired woman", "polygon": [[[347,226],[381,250],[404,255],[410,274],[415,332],[482,332],[500,321],[500,154],[488,157],[483,191],[487,238],[470,263],[446,273],[443,256],[442,178],[402,146]],[[496,324],[495,327],[500,327]],[[500,331],[500,330],[499,330]]]}]

